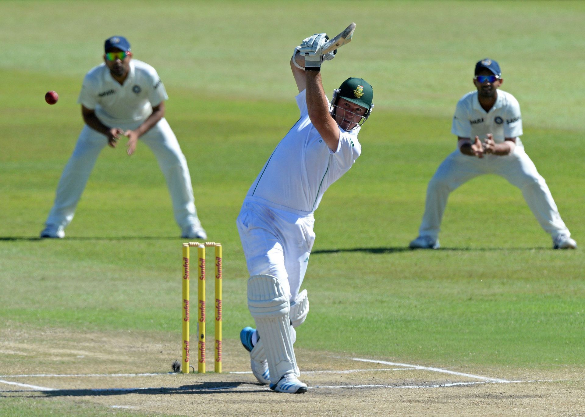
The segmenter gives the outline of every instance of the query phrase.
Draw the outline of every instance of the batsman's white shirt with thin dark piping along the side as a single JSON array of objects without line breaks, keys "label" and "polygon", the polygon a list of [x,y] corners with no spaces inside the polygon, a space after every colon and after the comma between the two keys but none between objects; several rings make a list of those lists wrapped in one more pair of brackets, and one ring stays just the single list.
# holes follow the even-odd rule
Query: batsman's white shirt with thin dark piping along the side
[{"label": "batsman's white shirt with thin dark piping along the side", "polygon": [[338,148],[331,151],[309,119],[305,90],[295,99],[301,118],[278,143],[246,199],[311,213],[319,206],[325,190],[360,156],[360,127],[352,131],[339,128]]}]

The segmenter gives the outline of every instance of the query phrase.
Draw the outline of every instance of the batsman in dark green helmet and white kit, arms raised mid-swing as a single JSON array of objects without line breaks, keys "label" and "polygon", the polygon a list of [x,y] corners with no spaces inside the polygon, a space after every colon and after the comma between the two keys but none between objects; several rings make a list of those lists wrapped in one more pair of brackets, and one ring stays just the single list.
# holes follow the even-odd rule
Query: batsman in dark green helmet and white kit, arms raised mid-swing
[{"label": "batsman in dark green helmet and white kit, arms raised mid-swing", "polygon": [[256,378],[278,392],[302,394],[292,344],[295,327],[309,310],[300,291],[315,241],[313,213],[325,190],[347,172],[362,146],[357,135],[372,108],[373,90],[361,78],[347,78],[329,104],[321,83],[325,33],[304,39],[291,69],[299,94],[300,119],[278,143],[250,187],[238,216],[250,279],[248,308],[257,330],[240,333]]}]

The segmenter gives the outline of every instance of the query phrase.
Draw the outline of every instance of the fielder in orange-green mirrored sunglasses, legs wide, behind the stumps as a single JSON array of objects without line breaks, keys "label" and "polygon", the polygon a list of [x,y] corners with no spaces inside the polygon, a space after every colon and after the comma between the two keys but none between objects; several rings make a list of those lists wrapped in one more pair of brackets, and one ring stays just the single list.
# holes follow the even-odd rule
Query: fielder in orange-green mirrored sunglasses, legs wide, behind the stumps
[{"label": "fielder in orange-green mirrored sunglasses, legs wide, behind the stumps", "polygon": [[99,152],[105,145],[115,148],[119,139],[126,136],[128,155],[136,150],[140,138],[156,156],[171,194],[181,237],[206,239],[195,210],[187,160],[164,118],[164,100],[168,96],[159,75],[149,64],[132,59],[130,43],[122,36],[105,41],[104,61],[83,80],[77,102],[81,104],[85,126],[63,170],[40,237],[65,236],[64,229],[73,220]]}]

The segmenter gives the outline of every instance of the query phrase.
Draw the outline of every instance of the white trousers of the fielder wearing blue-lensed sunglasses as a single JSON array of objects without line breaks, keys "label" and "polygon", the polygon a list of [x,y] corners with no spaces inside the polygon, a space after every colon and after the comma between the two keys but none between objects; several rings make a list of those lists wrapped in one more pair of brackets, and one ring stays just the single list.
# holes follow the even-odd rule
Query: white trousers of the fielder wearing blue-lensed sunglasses
[{"label": "white trousers of the fielder wearing blue-lensed sunglasses", "polygon": [[486,155],[481,159],[463,155],[459,149],[451,153],[439,165],[426,189],[425,214],[419,235],[436,240],[449,194],[461,184],[483,174],[500,175],[518,187],[538,223],[553,239],[559,234],[570,236],[545,179],[522,148],[515,148],[512,155]]}]

